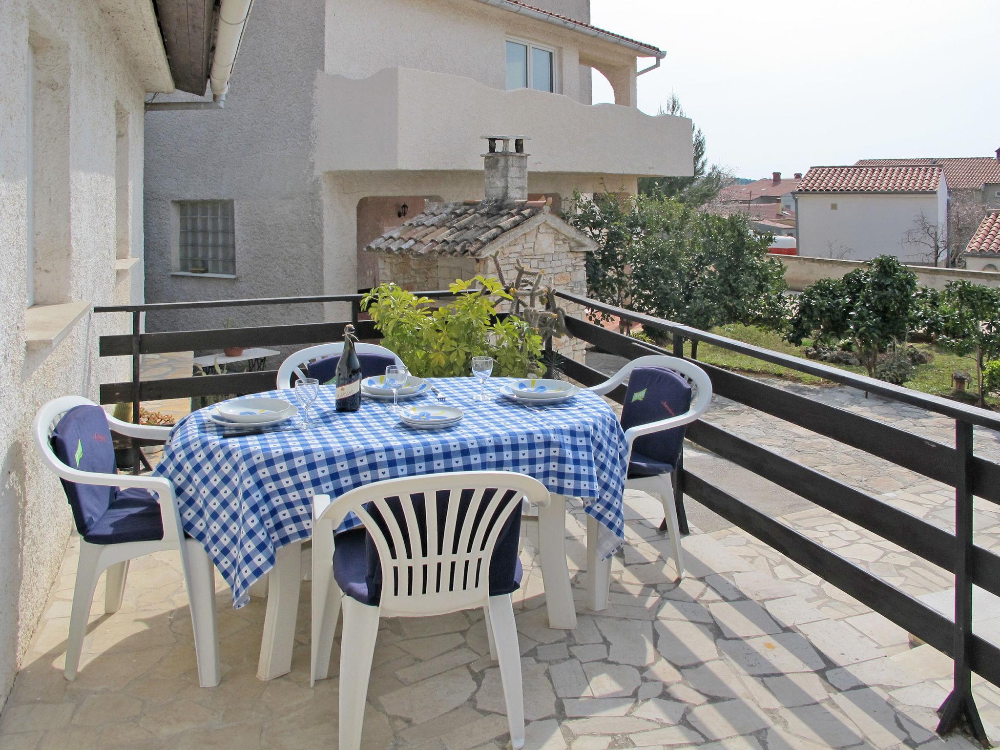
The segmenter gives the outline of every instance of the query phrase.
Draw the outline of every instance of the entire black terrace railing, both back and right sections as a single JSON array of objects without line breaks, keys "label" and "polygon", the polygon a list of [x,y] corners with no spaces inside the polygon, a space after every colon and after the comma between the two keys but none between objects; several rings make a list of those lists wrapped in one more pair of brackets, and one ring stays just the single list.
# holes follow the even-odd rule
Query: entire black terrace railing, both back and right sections
[{"label": "entire black terrace railing, both back and right sections", "polygon": [[[447,291],[424,296],[452,296]],[[794,455],[779,455],[704,420],[690,425],[687,437],[697,445],[783,487],[832,513],[896,544],[955,578],[955,620],[942,615],[873,573],[838,555],[794,528],[754,508],[714,485],[709,477],[686,469],[675,471],[675,501],[687,533],[683,497],[697,500],[789,559],[830,582],[892,622],[954,659],[954,688],[942,706],[939,732],[950,732],[964,718],[973,733],[986,737],[972,697],[975,671],[1000,685],[1000,648],[972,629],[972,587],[1000,596],[1000,556],[973,543],[973,496],[1000,504],[1000,465],[973,452],[974,427],[1000,430],[1000,416],[956,401],[930,396],[880,380],[855,375],[828,365],[773,352],[707,331],[616,308],[585,297],[558,293],[566,302],[587,310],[641,323],[672,339],[672,351],[640,342],[588,320],[567,317],[569,333],[595,347],[627,359],[646,354],[684,356],[684,341],[699,341],[798,372],[818,376],[851,388],[925,409],[955,421],[955,444],[946,445],[907,430],[840,409],[759,380],[699,363],[708,372],[720,396],[852,446],[872,456],[955,488],[955,532],[951,533],[878,498],[798,463]],[[129,334],[102,336],[100,356],[130,356],[132,379],[101,385],[101,403],[130,401],[138,418],[142,401],[232,393],[253,393],[275,386],[276,371],[231,373],[212,377],[183,377],[142,381],[141,355],[222,348],[224,346],[305,346],[336,341],[344,326],[354,323],[362,338],[377,338],[371,321],[359,320],[361,295],[282,297],[253,300],[123,305],[95,308],[95,312],[132,315]],[[157,311],[197,308],[294,305],[338,302],[351,305],[350,320],[324,323],[255,326],[207,330],[142,332],[142,315]],[[547,347],[551,351],[551,347]],[[586,385],[607,375],[586,364],[563,358],[563,372]],[[618,401],[624,389],[611,394]]]}]

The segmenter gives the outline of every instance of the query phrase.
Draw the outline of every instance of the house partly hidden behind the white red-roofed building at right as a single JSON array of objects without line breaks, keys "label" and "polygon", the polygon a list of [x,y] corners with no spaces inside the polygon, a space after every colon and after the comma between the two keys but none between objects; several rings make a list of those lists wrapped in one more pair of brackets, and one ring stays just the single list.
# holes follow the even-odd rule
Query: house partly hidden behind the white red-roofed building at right
[{"label": "house partly hidden behind the white red-roofed building at right", "polygon": [[948,186],[948,215],[944,234],[950,256],[957,259],[979,226],[983,212],[1000,208],[1000,148],[995,156],[964,158],[861,159],[857,166],[937,165]]}]

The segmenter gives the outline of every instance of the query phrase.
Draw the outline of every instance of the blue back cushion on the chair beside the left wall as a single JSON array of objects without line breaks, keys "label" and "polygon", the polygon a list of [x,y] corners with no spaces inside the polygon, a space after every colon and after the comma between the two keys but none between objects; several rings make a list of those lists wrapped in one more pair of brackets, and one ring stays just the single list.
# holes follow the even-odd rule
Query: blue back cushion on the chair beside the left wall
[{"label": "blue back cushion on the chair beside the left wall", "polygon": [[[115,448],[104,409],[95,404],[74,406],[52,431],[52,450],[64,464],[80,471],[117,474]],[[111,505],[115,488],[62,480],[66,499],[80,536],[86,537]]]}]

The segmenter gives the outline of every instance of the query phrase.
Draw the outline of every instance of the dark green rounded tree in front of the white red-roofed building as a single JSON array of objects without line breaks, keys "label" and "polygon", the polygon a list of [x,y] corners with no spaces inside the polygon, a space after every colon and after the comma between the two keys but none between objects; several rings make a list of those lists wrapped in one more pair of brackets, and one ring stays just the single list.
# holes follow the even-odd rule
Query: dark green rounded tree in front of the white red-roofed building
[{"label": "dark green rounded tree in front of the white red-roofed building", "polygon": [[905,341],[919,325],[917,275],[891,255],[880,255],[841,279],[822,279],[803,290],[786,338],[831,343],[848,340],[869,377],[879,355]]}]

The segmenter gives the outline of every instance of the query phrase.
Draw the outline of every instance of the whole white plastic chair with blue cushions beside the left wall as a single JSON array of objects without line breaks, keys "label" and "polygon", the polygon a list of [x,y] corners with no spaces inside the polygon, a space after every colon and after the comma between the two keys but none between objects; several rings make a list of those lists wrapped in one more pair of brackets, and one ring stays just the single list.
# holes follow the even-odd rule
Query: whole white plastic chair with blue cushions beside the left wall
[{"label": "whole white plastic chair with blue cushions beside the left wall", "polygon": [[165,441],[169,427],[122,422],[81,396],[45,404],[35,416],[34,437],[42,461],[62,480],[80,534],[80,559],[66,643],[67,680],[76,679],[97,579],[107,570],[104,611],[117,612],[129,561],[176,549],[194,625],[198,679],[219,684],[215,627],[215,568],[200,542],[183,535],[174,487],[167,479],[118,474],[111,430]]}]

